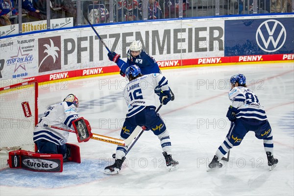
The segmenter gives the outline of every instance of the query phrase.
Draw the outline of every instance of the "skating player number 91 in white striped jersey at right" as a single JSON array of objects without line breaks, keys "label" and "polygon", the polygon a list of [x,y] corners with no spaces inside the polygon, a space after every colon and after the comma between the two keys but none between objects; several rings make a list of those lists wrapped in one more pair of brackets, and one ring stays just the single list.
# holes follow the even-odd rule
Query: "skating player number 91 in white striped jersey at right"
[{"label": "skating player number 91 in white striped jersey at right", "polygon": [[233,75],[230,83],[232,89],[228,96],[232,105],[226,117],[231,121],[231,127],[212,162],[208,165],[209,170],[221,168],[222,164],[219,162],[221,158],[232,147],[239,146],[248,131],[254,131],[255,137],[263,140],[268,166],[272,170],[278,163],[278,159],[273,158],[272,131],[264,107],[261,106],[257,96],[247,88],[245,75]]}]

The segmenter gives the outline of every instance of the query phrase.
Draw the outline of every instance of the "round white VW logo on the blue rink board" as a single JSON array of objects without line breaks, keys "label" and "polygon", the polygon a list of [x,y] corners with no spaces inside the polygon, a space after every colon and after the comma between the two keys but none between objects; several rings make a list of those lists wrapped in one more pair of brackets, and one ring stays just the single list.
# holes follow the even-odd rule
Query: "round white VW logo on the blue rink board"
[{"label": "round white VW logo on the blue rink board", "polygon": [[267,20],[259,25],[256,41],[259,48],[266,52],[277,51],[286,41],[286,29],[279,21]]}]

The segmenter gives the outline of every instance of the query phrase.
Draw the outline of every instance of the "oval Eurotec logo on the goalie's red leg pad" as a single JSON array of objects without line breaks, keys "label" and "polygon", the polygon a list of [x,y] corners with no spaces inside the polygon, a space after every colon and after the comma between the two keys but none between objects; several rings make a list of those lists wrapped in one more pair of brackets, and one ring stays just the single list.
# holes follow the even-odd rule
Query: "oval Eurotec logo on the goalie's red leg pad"
[{"label": "oval Eurotec logo on the goalie's red leg pad", "polygon": [[46,172],[59,172],[60,160],[52,159],[34,159],[23,156],[22,167],[29,170],[46,171]]}]

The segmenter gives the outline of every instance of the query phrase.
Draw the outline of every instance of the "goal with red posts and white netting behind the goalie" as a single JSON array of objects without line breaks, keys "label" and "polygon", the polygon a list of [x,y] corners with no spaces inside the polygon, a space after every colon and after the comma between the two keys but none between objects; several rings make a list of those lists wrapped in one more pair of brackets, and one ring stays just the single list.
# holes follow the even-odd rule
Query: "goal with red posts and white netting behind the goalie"
[{"label": "goal with red posts and white netting behind the goalie", "polygon": [[35,151],[33,130],[37,123],[37,81],[0,80],[0,151]]}]

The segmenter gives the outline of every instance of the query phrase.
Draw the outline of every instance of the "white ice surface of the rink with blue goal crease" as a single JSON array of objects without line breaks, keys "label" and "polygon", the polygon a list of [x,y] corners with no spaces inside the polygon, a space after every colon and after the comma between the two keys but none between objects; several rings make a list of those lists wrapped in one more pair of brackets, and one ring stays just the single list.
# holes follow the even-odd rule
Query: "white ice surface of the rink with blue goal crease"
[{"label": "white ice surface of the rink with blue goal crease", "polygon": [[[90,140],[69,143],[81,151],[81,164],[64,163],[63,172],[0,171],[1,196],[46,195],[294,195],[294,64],[246,64],[162,70],[175,100],[159,114],[170,131],[173,158],[179,169],[169,172],[158,138],[145,131],[130,150],[117,175],[103,170],[112,164],[116,145]],[[263,141],[249,132],[230,152],[224,168],[206,172],[223,142],[230,122],[229,78],[243,73],[247,86],[265,106],[273,131],[274,157],[269,171]],[[79,98],[78,113],[92,132],[118,138],[127,107],[123,99],[125,79],[119,74],[69,80],[39,86],[39,117],[68,94]],[[158,101],[159,105],[159,101]],[[1,164],[3,160],[1,160]]]}]

